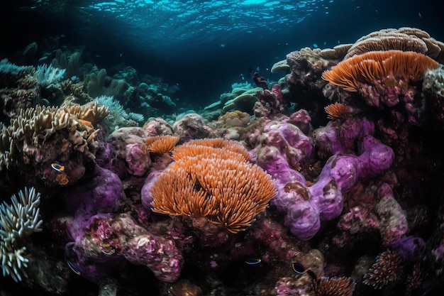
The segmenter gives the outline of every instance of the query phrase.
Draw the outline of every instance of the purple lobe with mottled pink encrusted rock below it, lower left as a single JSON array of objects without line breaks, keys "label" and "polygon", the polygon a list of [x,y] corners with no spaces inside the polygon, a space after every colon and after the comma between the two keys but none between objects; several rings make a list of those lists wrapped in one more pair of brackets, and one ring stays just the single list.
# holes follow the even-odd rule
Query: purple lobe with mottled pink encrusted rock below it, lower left
[{"label": "purple lobe with mottled pink encrusted rock below it, lower left", "polygon": [[150,233],[128,214],[110,214],[121,212],[126,202],[121,180],[98,166],[95,175],[65,194],[74,213],[67,223],[73,242],[65,248],[70,265],[94,282],[123,261],[148,266],[162,281],[177,280],[183,258],[174,242]]}]

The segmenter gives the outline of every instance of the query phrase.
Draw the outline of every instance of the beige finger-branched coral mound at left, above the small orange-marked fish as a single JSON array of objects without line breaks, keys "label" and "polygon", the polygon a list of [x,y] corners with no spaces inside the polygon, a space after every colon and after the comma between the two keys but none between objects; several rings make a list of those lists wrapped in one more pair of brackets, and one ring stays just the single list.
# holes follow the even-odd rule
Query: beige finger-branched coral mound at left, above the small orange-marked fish
[{"label": "beige finger-branched coral mound at left, above the small orange-marked fish", "polygon": [[[22,110],[9,126],[0,123],[0,170],[31,171],[48,186],[74,184],[98,149],[95,138],[99,129],[91,126],[108,112],[95,102]],[[62,163],[62,170],[54,169],[58,163]]]}]

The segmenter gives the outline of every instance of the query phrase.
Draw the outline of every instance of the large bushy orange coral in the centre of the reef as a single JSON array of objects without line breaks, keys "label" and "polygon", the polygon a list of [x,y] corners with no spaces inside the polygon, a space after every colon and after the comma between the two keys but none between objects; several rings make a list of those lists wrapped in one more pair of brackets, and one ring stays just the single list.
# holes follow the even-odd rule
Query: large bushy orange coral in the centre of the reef
[{"label": "large bushy orange coral in the centre of the reef", "polygon": [[[223,139],[197,141],[235,146],[223,142]],[[152,187],[154,212],[195,218],[205,216],[211,223],[235,234],[248,228],[274,197],[270,175],[248,163],[242,153],[185,144],[176,148],[174,155],[177,161],[162,172]]]}]

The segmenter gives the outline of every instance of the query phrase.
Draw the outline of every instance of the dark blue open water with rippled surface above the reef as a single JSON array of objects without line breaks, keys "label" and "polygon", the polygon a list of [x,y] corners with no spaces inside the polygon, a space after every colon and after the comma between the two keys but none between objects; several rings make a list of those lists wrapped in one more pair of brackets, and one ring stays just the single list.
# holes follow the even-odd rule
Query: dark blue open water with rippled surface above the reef
[{"label": "dark blue open water with rippled surface above the reef", "polygon": [[250,70],[279,79],[270,68],[287,53],[332,48],[382,28],[409,26],[444,41],[440,1],[5,1],[1,4],[0,57],[31,42],[60,36],[85,46],[88,58],[111,70],[178,84],[179,99],[205,105],[250,79]]}]

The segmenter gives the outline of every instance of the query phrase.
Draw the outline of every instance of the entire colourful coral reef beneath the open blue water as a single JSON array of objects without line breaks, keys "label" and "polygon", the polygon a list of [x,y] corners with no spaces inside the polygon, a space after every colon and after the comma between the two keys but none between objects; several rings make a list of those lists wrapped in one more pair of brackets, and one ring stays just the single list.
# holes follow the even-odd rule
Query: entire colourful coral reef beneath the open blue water
[{"label": "entire colourful coral reef beneath the open blue water", "polygon": [[428,33],[301,48],[277,82],[196,109],[84,58],[55,44],[40,66],[0,62],[0,294],[443,290],[443,43]]}]

